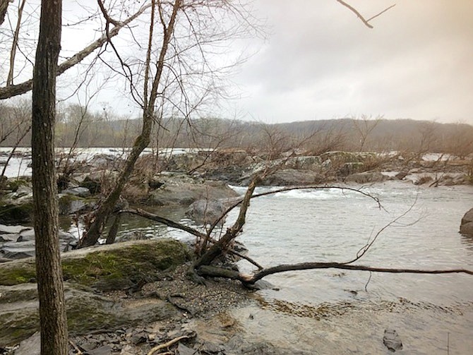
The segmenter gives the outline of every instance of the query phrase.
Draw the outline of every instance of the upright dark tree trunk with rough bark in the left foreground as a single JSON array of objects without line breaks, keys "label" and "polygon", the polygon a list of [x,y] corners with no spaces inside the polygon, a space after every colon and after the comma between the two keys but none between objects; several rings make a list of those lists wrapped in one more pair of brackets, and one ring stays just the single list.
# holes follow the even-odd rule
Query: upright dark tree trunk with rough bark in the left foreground
[{"label": "upright dark tree trunk with rough bark in the left foreground", "polygon": [[59,254],[54,122],[61,1],[42,0],[32,89],[32,188],[41,354],[66,355],[66,305]]}]

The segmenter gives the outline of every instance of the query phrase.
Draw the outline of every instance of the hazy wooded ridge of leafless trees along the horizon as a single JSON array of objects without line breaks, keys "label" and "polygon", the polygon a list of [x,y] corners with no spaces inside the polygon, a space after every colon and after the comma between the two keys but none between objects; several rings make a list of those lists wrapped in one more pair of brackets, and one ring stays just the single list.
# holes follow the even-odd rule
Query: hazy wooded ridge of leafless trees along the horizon
[{"label": "hazy wooded ridge of leafless trees along the horizon", "polygon": [[[28,105],[25,105],[28,106]],[[30,146],[30,113],[25,107],[0,106],[0,146]],[[59,109],[56,146],[126,148],[140,133],[140,119],[117,119],[90,113],[78,105]],[[330,150],[443,152],[465,157],[473,152],[473,126],[412,119],[360,118],[262,124],[217,118],[160,119],[154,148],[237,148],[258,150],[262,140],[277,137],[290,150],[317,155]],[[300,142],[304,142],[300,145]],[[19,142],[19,143],[18,143]]]}]

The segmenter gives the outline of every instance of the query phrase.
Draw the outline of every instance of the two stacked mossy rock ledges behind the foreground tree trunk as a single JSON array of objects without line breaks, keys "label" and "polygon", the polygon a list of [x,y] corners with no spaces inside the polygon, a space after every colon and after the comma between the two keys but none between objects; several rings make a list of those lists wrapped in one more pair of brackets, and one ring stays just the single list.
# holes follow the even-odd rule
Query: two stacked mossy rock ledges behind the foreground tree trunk
[{"label": "two stacked mossy rock ledges behind the foreground tree trunk", "polygon": [[[110,299],[97,291],[126,290],[151,282],[160,272],[188,260],[179,241],[136,241],[80,249],[62,255],[69,332],[127,327],[172,318],[176,314],[161,299]],[[0,348],[18,344],[39,327],[35,260],[0,264]],[[151,319],[152,318],[152,319]]]}]

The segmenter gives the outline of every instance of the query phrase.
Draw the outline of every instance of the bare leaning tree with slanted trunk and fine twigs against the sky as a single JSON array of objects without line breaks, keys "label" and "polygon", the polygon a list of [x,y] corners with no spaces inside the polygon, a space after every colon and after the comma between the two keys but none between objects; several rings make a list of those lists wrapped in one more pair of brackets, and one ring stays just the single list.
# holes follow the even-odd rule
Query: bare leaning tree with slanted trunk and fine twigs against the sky
[{"label": "bare leaning tree with slanted trunk and fine twigs against the sky", "polygon": [[[107,23],[116,22],[104,6],[101,9]],[[232,25],[227,28],[218,20],[223,15],[233,16],[241,25],[234,25],[236,22],[229,20]],[[136,58],[126,61],[113,42],[109,42],[119,64],[116,70],[121,71],[121,75],[126,78],[131,95],[143,109],[142,131],[135,140],[113,191],[95,211],[92,224],[81,239],[81,246],[97,243],[134,164],[150,144],[153,124],[160,124],[163,112],[169,116],[179,116],[191,124],[191,116],[198,112],[205,100],[212,95],[220,95],[221,89],[216,84],[220,72],[210,65],[208,52],[216,43],[224,42],[229,36],[246,33],[246,28],[241,28],[249,26],[245,16],[244,9],[224,0],[152,1],[144,63]],[[156,45],[157,41],[159,45]],[[138,83],[143,85],[141,92],[137,90]],[[160,106],[163,104],[166,105],[165,109]]]}]

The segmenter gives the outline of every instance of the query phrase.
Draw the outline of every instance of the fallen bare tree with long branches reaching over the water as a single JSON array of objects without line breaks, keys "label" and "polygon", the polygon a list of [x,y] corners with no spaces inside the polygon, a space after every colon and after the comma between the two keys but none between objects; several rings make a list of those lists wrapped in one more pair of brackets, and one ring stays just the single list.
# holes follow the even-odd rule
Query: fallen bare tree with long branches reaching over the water
[{"label": "fallen bare tree with long branches reaching over the water", "polygon": [[[244,274],[239,272],[239,270],[235,270],[234,268],[227,267],[228,265],[222,265],[222,263],[218,263],[218,261],[222,260],[227,254],[239,254],[236,253],[234,248],[234,243],[236,238],[241,234],[242,228],[244,227],[246,221],[246,213],[248,212],[251,199],[258,198],[264,195],[270,195],[274,193],[280,193],[284,191],[292,191],[292,190],[323,190],[328,188],[335,188],[340,189],[341,191],[352,191],[356,193],[361,193],[362,195],[366,196],[366,198],[371,198],[373,201],[378,205],[379,208],[383,208],[381,202],[375,196],[362,191],[360,188],[349,188],[345,186],[294,186],[294,187],[286,187],[280,188],[273,191],[267,191],[263,193],[254,193],[256,187],[258,186],[258,181],[261,181],[262,175],[256,175],[249,187],[246,190],[246,193],[241,200],[236,201],[232,206],[230,206],[220,217],[217,219],[210,228],[203,233],[198,229],[194,229],[192,227],[188,227],[184,224],[180,224],[178,222],[174,222],[170,219],[166,219],[164,217],[160,217],[154,215],[150,212],[145,212],[143,210],[121,210],[121,213],[132,213],[133,215],[138,215],[140,217],[145,217],[148,219],[155,220],[156,222],[162,223],[167,225],[168,227],[180,229],[182,231],[186,231],[189,234],[196,236],[196,260],[193,261],[190,270],[188,272],[188,276],[191,277],[194,281],[198,283],[205,283],[205,277],[224,277],[228,279],[236,279],[242,282],[246,286],[251,286],[255,284],[258,280],[263,279],[268,275],[273,275],[280,272],[289,272],[289,271],[297,271],[297,270],[316,270],[316,269],[340,269],[340,270],[359,270],[359,271],[369,271],[369,272],[387,272],[387,273],[411,273],[411,274],[430,274],[430,275],[440,275],[440,274],[453,274],[453,273],[463,273],[467,275],[473,275],[473,270],[467,270],[463,268],[457,269],[410,269],[405,267],[377,267],[377,266],[369,266],[369,265],[361,265],[359,260],[363,258],[367,251],[373,246],[373,244],[378,239],[385,229],[388,229],[392,224],[395,224],[399,221],[402,217],[405,217],[412,209],[413,206],[409,207],[409,209],[402,213],[402,215],[396,217],[390,223],[386,224],[385,227],[381,228],[375,236],[373,236],[363,247],[361,247],[357,253],[357,255],[352,258],[352,260],[347,260],[346,262],[317,262],[317,261],[308,261],[305,263],[296,263],[296,264],[282,264],[282,265],[275,265],[271,267],[262,267],[258,262],[252,260],[251,258],[239,255],[246,260],[248,260],[253,265],[258,267],[258,270],[254,271],[251,275]],[[223,219],[230,211],[234,210],[234,208],[239,207],[239,215],[236,218],[234,224],[231,227],[227,228],[227,230],[223,233],[220,238],[215,237],[215,227],[217,226],[218,222]]]}]

